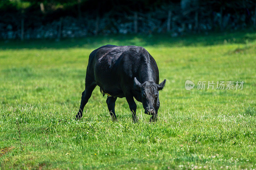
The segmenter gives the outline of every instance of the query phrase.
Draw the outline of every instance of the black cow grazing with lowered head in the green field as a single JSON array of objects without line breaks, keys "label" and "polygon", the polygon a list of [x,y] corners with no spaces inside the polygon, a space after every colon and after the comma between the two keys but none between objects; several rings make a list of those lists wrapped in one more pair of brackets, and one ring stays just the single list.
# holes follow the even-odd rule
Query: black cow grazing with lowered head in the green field
[{"label": "black cow grazing with lowered head in the green field", "polygon": [[160,106],[159,90],[166,80],[159,84],[159,72],[154,58],[143,47],[104,45],[89,56],[85,76],[85,90],[76,119],[82,117],[85,104],[98,85],[103,94],[108,95],[107,104],[112,120],[116,120],[115,103],[117,97],[125,97],[137,122],[137,105],[133,97],[142,102],[145,113],[152,115],[150,121],[157,120]]}]

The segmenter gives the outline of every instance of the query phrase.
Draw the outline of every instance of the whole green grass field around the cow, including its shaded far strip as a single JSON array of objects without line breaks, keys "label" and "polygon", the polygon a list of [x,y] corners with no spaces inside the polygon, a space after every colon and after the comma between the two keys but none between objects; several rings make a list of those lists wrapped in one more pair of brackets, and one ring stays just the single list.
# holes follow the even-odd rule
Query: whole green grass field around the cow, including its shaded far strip
[{"label": "whole green grass field around the cow, including its shaded far strip", "polygon": [[[105,44],[143,46],[155,58],[167,80],[157,123],[136,102],[133,124],[125,98],[113,123],[99,87],[74,120],[88,56]],[[255,169],[255,65],[256,34],[245,32],[1,41],[0,169]],[[244,84],[196,89],[198,81]]]}]

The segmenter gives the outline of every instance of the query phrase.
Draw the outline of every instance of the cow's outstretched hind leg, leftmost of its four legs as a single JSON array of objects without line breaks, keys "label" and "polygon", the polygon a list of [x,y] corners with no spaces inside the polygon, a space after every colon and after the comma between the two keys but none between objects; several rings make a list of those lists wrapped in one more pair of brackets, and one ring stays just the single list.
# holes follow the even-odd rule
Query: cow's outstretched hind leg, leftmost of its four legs
[{"label": "cow's outstretched hind leg, leftmost of its four legs", "polygon": [[85,104],[87,104],[89,98],[92,96],[92,91],[95,89],[96,86],[97,85],[96,85],[96,82],[94,81],[94,79],[92,79],[90,76],[88,76],[86,74],[85,90],[82,93],[81,104],[80,104],[79,111],[76,115],[76,119],[80,119],[83,116],[84,106],[85,106]]}]

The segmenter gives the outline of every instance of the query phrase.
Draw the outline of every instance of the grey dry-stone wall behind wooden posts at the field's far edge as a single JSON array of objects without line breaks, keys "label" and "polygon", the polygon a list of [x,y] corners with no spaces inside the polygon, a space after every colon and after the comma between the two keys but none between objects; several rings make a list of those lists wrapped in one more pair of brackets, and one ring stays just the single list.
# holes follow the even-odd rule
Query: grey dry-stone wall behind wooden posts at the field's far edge
[{"label": "grey dry-stone wall behind wooden posts at the field's far edge", "polygon": [[[165,33],[167,32],[168,13],[158,10],[151,13],[138,13],[137,32],[143,34]],[[220,13],[213,12],[211,17],[200,18],[196,25],[194,17],[184,19],[182,16],[175,15],[171,18],[170,29],[168,30],[172,36],[182,35],[185,32],[208,32],[220,28]],[[221,18],[221,26],[224,29],[242,29],[248,27],[245,22],[247,16],[237,17],[231,14],[225,14]],[[192,18],[192,19],[191,19]],[[248,17],[247,17],[248,18]],[[248,19],[247,19],[248,20]],[[249,18],[249,21],[253,17]],[[36,21],[35,21],[36,22]],[[10,23],[0,23],[0,39],[20,39],[21,29]],[[62,38],[85,37],[95,34],[130,34],[134,33],[134,17],[120,16],[111,18],[108,16],[99,19],[90,19],[83,17],[77,19],[74,17],[63,17],[52,22],[41,24],[38,22],[36,26],[30,27],[24,21],[24,39],[44,39],[44,38]],[[60,29],[61,27],[61,29]],[[59,31],[61,34],[59,34]]]}]

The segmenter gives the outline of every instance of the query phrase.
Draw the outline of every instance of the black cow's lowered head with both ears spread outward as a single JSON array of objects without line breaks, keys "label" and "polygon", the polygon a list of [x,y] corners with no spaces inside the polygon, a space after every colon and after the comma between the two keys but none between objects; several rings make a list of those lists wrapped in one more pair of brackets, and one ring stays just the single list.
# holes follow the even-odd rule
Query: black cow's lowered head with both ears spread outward
[{"label": "black cow's lowered head with both ears spread outward", "polygon": [[159,108],[159,104],[157,106],[157,99],[159,97],[158,91],[164,88],[165,82],[166,80],[164,79],[159,85],[153,81],[145,81],[141,84],[136,77],[134,77],[134,88],[140,90],[141,102],[146,114],[153,115],[156,107]]}]

